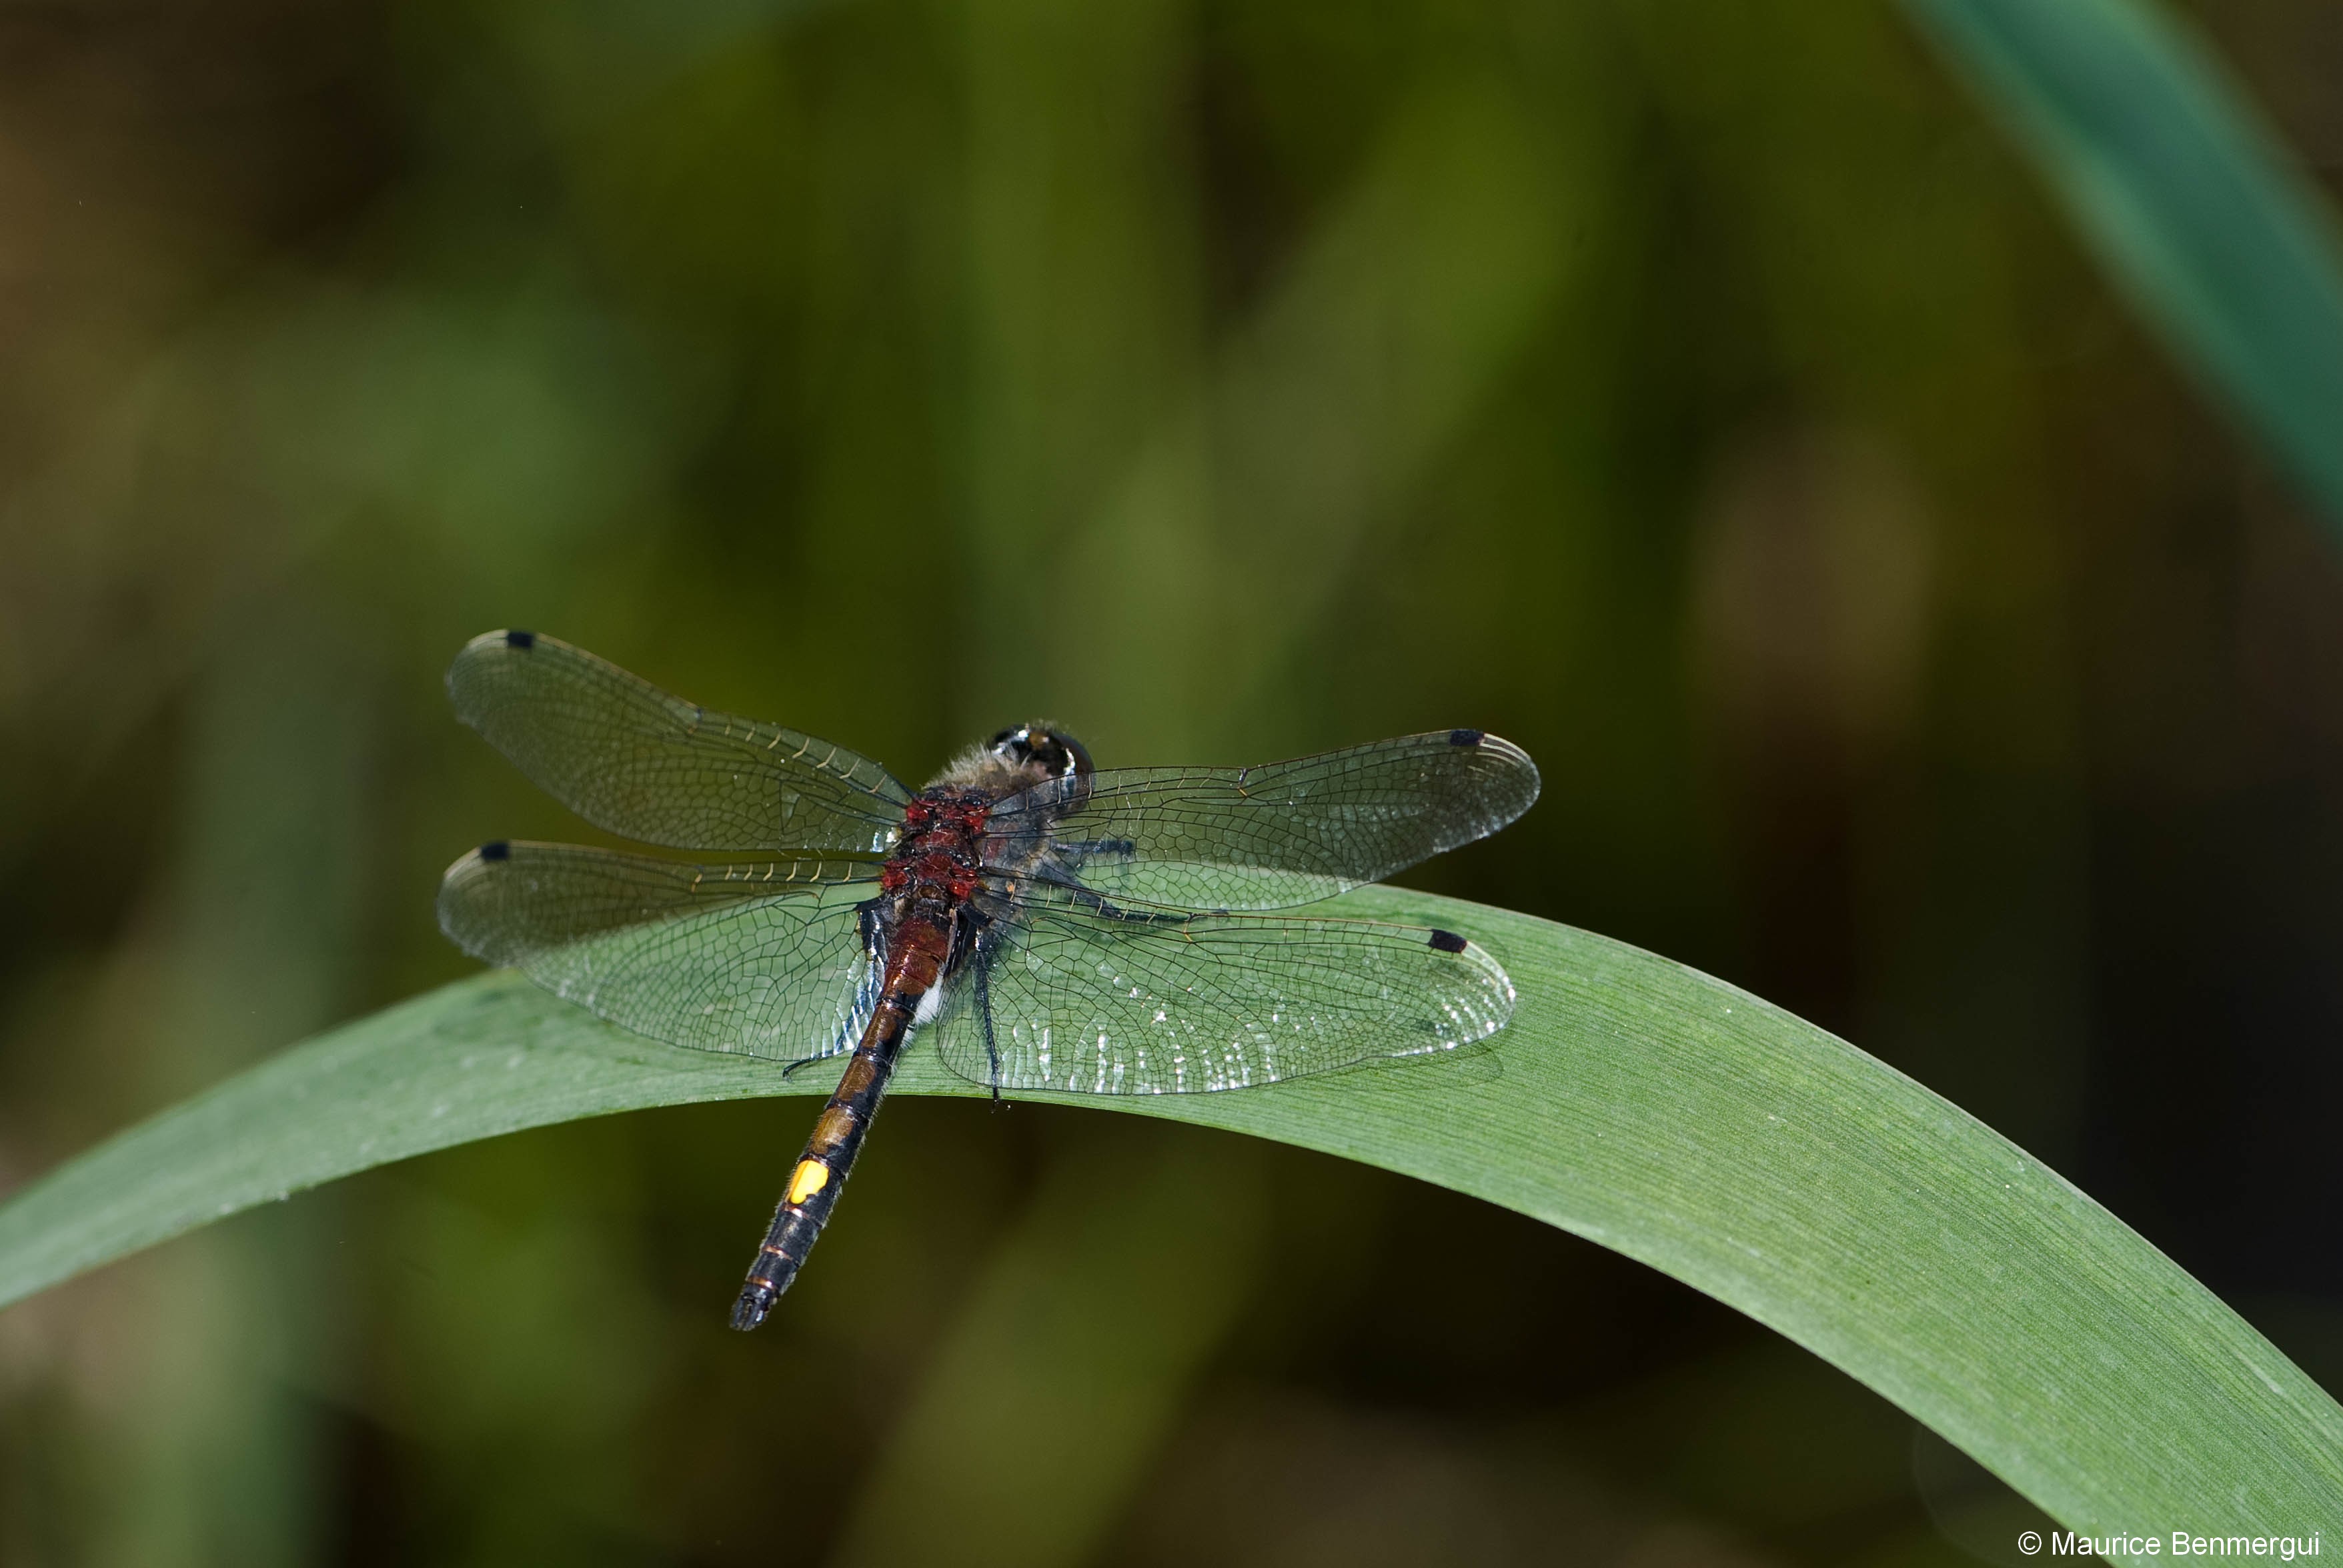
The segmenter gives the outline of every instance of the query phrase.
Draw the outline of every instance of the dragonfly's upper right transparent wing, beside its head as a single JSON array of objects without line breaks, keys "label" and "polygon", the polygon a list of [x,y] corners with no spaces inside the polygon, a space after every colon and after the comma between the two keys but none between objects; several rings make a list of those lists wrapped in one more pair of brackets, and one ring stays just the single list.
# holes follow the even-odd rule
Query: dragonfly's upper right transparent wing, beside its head
[{"label": "dragonfly's upper right transparent wing, beside its head", "polygon": [[1120,903],[1314,903],[1455,850],[1530,810],[1509,740],[1439,730],[1261,768],[1122,768],[993,807],[986,861]]}]

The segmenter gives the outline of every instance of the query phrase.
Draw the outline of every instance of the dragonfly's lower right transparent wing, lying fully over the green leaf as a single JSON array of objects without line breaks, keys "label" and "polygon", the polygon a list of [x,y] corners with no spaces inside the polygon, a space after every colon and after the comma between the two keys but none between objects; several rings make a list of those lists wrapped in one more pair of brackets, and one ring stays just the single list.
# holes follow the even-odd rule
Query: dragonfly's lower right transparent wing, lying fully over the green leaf
[{"label": "dragonfly's lower right transparent wing, lying fully over the green leaf", "polygon": [[[1425,927],[1282,915],[1003,920],[937,1018],[944,1065],[1005,1091],[1181,1095],[1441,1055],[1514,1016],[1483,948]],[[991,1009],[991,1030],[986,1011]]]}]

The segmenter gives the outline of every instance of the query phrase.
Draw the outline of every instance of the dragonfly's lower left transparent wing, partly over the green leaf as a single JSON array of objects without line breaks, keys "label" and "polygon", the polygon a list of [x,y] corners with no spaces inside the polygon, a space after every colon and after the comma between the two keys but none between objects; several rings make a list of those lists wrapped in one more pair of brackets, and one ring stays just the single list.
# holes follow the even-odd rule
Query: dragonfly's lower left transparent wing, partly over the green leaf
[{"label": "dragonfly's lower left transparent wing, partly over the green leaf", "polygon": [[771,1060],[827,1055],[876,990],[858,861],[682,866],[576,845],[483,845],[440,880],[440,929],[612,1023]]}]

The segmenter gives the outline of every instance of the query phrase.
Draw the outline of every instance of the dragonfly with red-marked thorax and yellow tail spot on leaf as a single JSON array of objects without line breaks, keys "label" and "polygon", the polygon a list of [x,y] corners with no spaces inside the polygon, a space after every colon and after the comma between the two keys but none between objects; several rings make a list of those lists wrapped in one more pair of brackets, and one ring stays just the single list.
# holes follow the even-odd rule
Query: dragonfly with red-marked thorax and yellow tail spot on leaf
[{"label": "dragonfly with red-marked thorax and yellow tail spot on leaf", "polygon": [[487,632],[457,716],[539,789],[684,861],[497,840],[440,880],[469,955],[651,1039],[797,1072],[848,1058],[731,1325],[829,1222],[904,1048],[1005,1093],[1179,1095],[1464,1051],[1514,983],[1457,931],[1296,910],[1495,833],[1530,756],[1434,730],[1256,768],[1108,768],[1052,723],[911,791],[846,747]]}]

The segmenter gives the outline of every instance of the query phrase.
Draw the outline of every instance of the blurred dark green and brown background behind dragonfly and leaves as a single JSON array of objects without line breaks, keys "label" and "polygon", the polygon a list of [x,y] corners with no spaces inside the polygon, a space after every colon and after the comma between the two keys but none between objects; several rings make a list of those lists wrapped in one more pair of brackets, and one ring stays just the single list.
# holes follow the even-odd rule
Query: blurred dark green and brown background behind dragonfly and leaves
[{"label": "blurred dark green and brown background behind dragonfly and leaves", "polygon": [[[2343,23],[2202,21],[2343,180]],[[0,1187],[466,974],[530,625],[923,779],[1485,725],[1410,880],[1739,981],[2343,1378],[2343,571],[1879,5],[0,12]],[[902,1100],[370,1172],[0,1315],[5,1563],[1956,1563],[1589,1243]],[[2153,1521],[2142,1521],[2144,1528]]]}]

